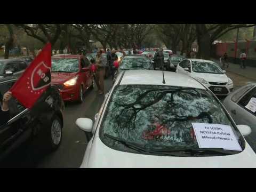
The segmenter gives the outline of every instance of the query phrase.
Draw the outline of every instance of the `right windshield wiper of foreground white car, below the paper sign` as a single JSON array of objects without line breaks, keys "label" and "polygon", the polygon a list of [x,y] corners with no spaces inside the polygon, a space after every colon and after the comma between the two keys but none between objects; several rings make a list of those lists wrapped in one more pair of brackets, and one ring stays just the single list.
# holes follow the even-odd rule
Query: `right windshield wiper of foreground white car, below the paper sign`
[{"label": "right windshield wiper of foreground white car, below the paper sign", "polygon": [[185,148],[185,149],[156,149],[154,151],[156,152],[185,152],[185,153],[191,153],[191,154],[209,154],[209,153],[217,153],[217,154],[223,154],[223,155],[233,155],[237,154],[240,151],[223,151],[224,149],[220,148],[198,148],[198,149],[191,149],[191,148]]}]

